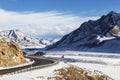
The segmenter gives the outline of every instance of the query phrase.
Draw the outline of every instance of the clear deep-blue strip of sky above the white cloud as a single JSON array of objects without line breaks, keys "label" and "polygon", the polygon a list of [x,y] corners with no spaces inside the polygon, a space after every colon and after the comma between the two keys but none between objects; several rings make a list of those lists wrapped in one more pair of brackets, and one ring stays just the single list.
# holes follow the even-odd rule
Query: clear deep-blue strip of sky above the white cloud
[{"label": "clear deep-blue strip of sky above the white cloud", "polygon": [[0,0],[0,8],[9,11],[59,11],[81,16],[98,16],[120,11],[120,0]]}]

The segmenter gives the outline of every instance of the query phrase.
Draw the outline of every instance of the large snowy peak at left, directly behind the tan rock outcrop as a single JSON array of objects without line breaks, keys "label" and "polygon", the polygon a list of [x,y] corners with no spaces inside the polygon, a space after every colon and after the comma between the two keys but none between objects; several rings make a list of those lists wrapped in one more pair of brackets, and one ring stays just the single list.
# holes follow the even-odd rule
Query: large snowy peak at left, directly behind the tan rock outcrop
[{"label": "large snowy peak at left, directly behind the tan rock outcrop", "polygon": [[46,45],[40,44],[39,40],[33,37],[30,37],[20,30],[6,30],[6,31],[0,31],[0,39],[3,39],[7,42],[14,42],[18,44],[21,48],[25,47],[39,47],[43,48]]}]

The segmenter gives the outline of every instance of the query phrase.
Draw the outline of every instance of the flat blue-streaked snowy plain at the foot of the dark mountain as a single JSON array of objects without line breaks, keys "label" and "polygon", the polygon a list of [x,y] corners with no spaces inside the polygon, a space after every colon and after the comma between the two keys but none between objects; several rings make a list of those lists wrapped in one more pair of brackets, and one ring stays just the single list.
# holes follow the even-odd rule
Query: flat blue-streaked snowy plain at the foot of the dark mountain
[{"label": "flat blue-streaked snowy plain at the foot of the dark mountain", "polygon": [[61,59],[63,55],[64,61],[70,63],[79,62],[120,66],[120,54],[61,51],[61,52],[48,52],[48,54],[45,56]]}]

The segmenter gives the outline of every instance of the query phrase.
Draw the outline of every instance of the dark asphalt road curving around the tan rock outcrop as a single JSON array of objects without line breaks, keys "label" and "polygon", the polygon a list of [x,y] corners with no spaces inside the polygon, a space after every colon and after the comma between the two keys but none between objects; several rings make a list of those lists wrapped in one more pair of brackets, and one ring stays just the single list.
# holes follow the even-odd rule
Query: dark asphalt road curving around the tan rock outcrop
[{"label": "dark asphalt road curving around the tan rock outcrop", "polygon": [[[32,59],[35,61],[32,64],[32,67],[54,63],[53,60],[44,59],[44,58],[40,58],[40,57],[34,57],[34,58],[32,57]],[[11,73],[11,72],[14,72],[14,71],[19,71],[19,70],[30,68],[30,67],[31,67],[31,65],[26,65],[26,66],[22,66],[22,67],[0,70],[0,75],[4,75],[4,74],[7,74],[7,73]]]}]

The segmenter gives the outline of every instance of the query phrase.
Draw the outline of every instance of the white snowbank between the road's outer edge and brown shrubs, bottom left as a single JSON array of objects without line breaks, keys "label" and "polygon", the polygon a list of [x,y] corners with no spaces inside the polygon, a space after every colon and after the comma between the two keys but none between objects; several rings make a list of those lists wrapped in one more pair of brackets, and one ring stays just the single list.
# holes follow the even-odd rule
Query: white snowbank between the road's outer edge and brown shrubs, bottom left
[{"label": "white snowbank between the road's outer edge and brown shrubs, bottom left", "polygon": [[55,69],[63,68],[65,66],[67,66],[66,63],[60,62],[55,66],[46,67],[43,69],[33,70],[15,75],[4,75],[0,77],[0,80],[47,80],[48,77],[54,76],[53,71]]}]

